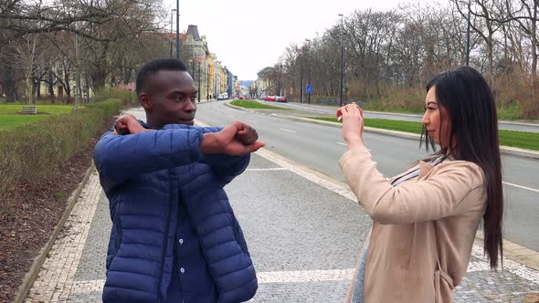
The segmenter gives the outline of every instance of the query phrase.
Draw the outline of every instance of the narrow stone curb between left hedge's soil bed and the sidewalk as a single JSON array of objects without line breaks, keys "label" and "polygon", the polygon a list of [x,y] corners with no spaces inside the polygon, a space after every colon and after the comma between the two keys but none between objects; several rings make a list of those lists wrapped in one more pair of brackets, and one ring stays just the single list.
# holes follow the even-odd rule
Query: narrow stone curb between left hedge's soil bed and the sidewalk
[{"label": "narrow stone curb between left hedge's soil bed and the sidewalk", "polygon": [[43,263],[45,263],[45,259],[48,256],[48,252],[54,245],[54,242],[58,238],[58,234],[60,233],[62,227],[64,227],[64,224],[68,220],[69,214],[71,214],[71,210],[73,209],[73,206],[77,203],[77,200],[79,200],[80,192],[82,192],[82,189],[88,182],[88,179],[90,178],[90,174],[94,171],[95,166],[93,161],[90,164],[90,167],[86,171],[86,175],[84,175],[84,178],[79,183],[79,187],[73,193],[71,193],[71,196],[68,199],[68,207],[64,211],[64,214],[58,221],[58,225],[54,228],[54,231],[52,232],[52,235],[50,235],[50,238],[48,239],[47,244],[41,249],[37,257],[34,259],[34,262],[32,263],[32,266],[30,267],[30,270],[26,273],[25,277],[23,278],[23,283],[18,288],[16,292],[16,297],[14,302],[15,303],[23,303],[26,299],[26,296],[28,295],[28,291],[30,290],[30,287],[34,284],[34,281],[37,278],[37,275],[39,274],[39,270],[41,269],[41,266],[43,266]]}]

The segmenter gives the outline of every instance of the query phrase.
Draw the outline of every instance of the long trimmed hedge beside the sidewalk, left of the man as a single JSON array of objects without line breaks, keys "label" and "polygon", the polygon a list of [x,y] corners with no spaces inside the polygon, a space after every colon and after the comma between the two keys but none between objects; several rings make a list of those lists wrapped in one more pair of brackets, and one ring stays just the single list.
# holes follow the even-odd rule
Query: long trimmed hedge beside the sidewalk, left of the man
[{"label": "long trimmed hedge beside the sidewalk, left of the man", "polygon": [[103,122],[119,108],[118,101],[100,102],[70,114],[0,131],[0,216],[7,207],[5,193],[13,184],[39,183],[58,173],[59,164],[88,146]]}]

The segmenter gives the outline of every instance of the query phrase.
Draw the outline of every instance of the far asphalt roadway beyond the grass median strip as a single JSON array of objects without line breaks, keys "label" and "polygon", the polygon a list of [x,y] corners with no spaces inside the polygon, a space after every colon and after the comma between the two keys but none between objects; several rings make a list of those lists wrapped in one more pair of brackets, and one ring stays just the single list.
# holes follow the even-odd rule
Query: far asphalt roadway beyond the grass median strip
[{"label": "far asphalt roadway beyond the grass median strip", "polygon": [[[331,107],[319,107],[319,106],[310,106],[307,104],[301,104],[301,103],[279,103],[279,102],[269,102],[269,101],[261,101],[269,105],[276,105],[276,106],[282,106],[289,109],[294,110],[305,110],[305,111],[311,111],[313,113],[317,113],[319,115],[324,116],[333,116],[335,114],[335,109]],[[387,120],[405,120],[405,121],[415,121],[420,122],[421,121],[421,115],[413,115],[413,114],[392,114],[392,113],[381,113],[381,112],[372,112],[372,111],[366,111],[365,112],[365,118],[371,118],[371,119],[387,119]],[[530,131],[530,132],[539,132],[539,123],[528,123],[528,122],[513,122],[513,121],[499,121],[498,128],[500,130],[507,130],[507,131]]]}]

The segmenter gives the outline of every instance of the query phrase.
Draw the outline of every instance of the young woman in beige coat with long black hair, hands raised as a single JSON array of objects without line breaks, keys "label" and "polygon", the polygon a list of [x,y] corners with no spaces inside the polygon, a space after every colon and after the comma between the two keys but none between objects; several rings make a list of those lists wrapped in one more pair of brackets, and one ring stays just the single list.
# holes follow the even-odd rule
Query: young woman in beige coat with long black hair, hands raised
[{"label": "young woman in beige coat with long black hair, hands raised", "polygon": [[439,74],[427,85],[423,136],[431,159],[392,179],[376,169],[362,139],[362,110],[343,118],[347,183],[373,219],[347,301],[452,302],[483,219],[491,268],[502,256],[502,169],[492,91],[472,68]]}]

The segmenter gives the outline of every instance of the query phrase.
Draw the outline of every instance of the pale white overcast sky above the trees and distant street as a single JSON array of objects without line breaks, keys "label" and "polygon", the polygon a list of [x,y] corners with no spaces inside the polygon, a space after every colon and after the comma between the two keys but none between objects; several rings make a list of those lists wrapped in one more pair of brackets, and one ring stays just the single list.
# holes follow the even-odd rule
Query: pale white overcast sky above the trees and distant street
[{"label": "pale white overcast sky above the trees and distant street", "polygon": [[[163,0],[176,7],[176,0]],[[405,0],[402,0],[405,1]],[[198,26],[209,51],[238,76],[254,80],[257,72],[277,63],[293,42],[322,34],[355,9],[394,8],[399,0],[180,0],[180,32]],[[175,22],[175,20],[174,20]],[[175,30],[175,24],[174,24]]]}]

